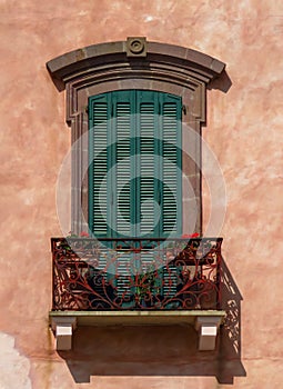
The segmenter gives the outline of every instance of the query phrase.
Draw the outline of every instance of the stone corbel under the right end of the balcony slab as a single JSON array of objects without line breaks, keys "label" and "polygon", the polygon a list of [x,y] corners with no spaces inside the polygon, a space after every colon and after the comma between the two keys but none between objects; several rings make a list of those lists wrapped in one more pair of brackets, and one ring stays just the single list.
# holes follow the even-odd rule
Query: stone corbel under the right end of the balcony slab
[{"label": "stone corbel under the right end of the balcony slab", "polygon": [[195,329],[199,332],[199,350],[212,351],[215,349],[216,336],[221,325],[221,317],[196,317]]}]

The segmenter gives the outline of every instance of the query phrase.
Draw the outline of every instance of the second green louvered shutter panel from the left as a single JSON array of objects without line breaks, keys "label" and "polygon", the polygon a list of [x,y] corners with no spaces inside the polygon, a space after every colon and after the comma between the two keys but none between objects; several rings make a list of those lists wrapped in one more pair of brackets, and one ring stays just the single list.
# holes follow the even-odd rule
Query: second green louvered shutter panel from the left
[{"label": "second green louvered shutter panel from the left", "polygon": [[[111,132],[113,149],[112,159],[112,190],[113,207],[112,237],[134,236],[134,191],[133,191],[133,169],[132,156],[134,154],[134,93],[131,91],[118,91],[111,96],[112,122]],[[134,290],[131,287],[133,269],[133,253],[118,252],[115,260],[115,272],[119,275],[115,280],[118,296],[129,298]],[[129,300],[130,301],[130,300]],[[129,302],[131,305],[131,302]]]}]

